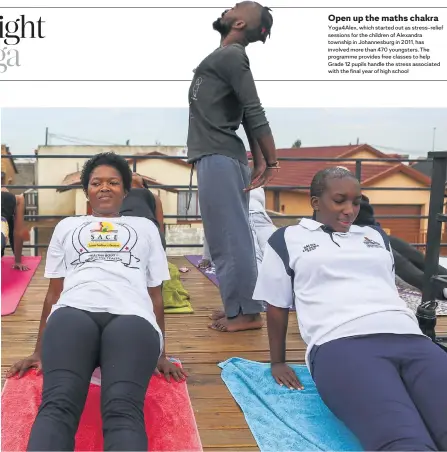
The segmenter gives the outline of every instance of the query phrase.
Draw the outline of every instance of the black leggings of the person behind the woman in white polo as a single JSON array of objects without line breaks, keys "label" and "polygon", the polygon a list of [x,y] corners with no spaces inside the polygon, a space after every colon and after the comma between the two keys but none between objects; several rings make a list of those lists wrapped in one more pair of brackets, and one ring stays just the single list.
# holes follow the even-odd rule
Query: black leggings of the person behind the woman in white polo
[{"label": "black leggings of the person behind the woman in white polo", "polygon": [[[418,249],[398,237],[390,235],[390,243],[393,249],[396,275],[422,292],[425,270],[424,255]],[[438,265],[438,275],[447,275],[447,270],[441,265]],[[442,289],[438,289],[435,297],[438,300],[445,299]]]}]

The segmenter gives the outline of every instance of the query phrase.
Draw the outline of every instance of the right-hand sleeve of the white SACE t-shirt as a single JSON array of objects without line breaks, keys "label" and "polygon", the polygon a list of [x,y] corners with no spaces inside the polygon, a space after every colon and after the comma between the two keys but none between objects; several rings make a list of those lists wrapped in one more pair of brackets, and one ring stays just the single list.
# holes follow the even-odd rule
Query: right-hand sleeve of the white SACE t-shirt
[{"label": "right-hand sleeve of the white SACE t-shirt", "polygon": [[147,287],[157,287],[163,281],[169,281],[171,276],[169,274],[168,258],[163,249],[160,239],[160,233],[157,227],[148,221],[148,228],[150,230],[149,237],[149,259],[146,267],[146,281]]}]

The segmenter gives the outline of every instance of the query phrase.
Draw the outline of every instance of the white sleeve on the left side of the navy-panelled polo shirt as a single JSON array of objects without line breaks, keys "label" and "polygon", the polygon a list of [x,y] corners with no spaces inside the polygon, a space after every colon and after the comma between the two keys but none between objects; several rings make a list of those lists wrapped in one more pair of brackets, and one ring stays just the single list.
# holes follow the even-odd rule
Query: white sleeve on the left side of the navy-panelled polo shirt
[{"label": "white sleeve on the left side of the navy-panelled polo shirt", "polygon": [[286,271],[284,261],[270,243],[265,247],[253,298],[278,308],[293,306],[291,276]]}]

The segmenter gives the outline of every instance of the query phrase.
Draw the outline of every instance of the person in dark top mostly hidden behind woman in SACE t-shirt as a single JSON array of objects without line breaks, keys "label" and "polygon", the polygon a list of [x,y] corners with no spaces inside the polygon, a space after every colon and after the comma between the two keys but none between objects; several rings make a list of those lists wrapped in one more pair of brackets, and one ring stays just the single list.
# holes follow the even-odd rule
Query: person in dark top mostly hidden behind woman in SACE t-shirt
[{"label": "person in dark top mostly hidden behind woman in SACE t-shirt", "polygon": [[164,235],[163,205],[160,197],[148,188],[141,174],[132,174],[132,188],[124,198],[120,213],[125,216],[143,217],[151,220],[160,232],[161,243],[166,249]]}]

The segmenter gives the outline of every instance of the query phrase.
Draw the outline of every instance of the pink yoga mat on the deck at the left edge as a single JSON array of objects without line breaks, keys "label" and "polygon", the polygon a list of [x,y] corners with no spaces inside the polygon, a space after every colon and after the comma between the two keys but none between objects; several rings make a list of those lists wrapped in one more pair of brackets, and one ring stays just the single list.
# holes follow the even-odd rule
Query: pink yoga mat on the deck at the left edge
[{"label": "pink yoga mat on the deck at the left edge", "polygon": [[27,265],[29,270],[22,272],[12,268],[12,256],[2,258],[2,315],[14,314],[41,259],[40,256],[24,256],[22,263]]}]

